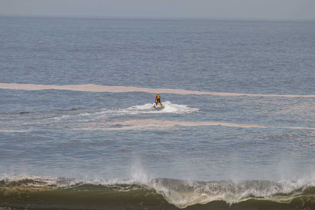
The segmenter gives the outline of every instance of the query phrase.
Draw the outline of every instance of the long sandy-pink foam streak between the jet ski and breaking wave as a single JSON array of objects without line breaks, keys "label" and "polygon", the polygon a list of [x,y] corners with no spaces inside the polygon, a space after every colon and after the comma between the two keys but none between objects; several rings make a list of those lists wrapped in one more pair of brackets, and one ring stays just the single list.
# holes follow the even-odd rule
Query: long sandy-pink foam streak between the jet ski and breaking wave
[{"label": "long sandy-pink foam streak between the jet ski and breaking wave", "polygon": [[105,123],[105,126],[115,126],[120,125],[123,127],[88,127],[88,128],[75,128],[77,130],[133,130],[133,129],[143,129],[143,128],[168,128],[174,126],[227,126],[227,127],[237,127],[237,128],[289,128],[289,129],[308,129],[315,130],[315,128],[306,127],[274,127],[274,126],[262,126],[254,124],[238,124],[229,122],[189,122],[189,121],[159,121],[159,120],[132,120],[124,122],[111,122]]}]

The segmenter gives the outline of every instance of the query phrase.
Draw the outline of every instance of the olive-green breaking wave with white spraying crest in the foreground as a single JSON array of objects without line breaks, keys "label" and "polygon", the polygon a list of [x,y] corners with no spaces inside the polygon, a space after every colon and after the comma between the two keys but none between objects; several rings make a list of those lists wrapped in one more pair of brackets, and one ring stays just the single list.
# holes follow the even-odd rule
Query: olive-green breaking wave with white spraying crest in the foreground
[{"label": "olive-green breaking wave with white spraying crest in the foreground", "polygon": [[[67,203],[89,204],[89,209],[116,205],[131,209],[175,209],[203,204],[211,206],[255,208],[315,207],[315,179],[297,181],[190,181],[178,179],[69,179],[36,176],[4,176],[0,179],[0,205],[41,201],[42,208],[52,202],[67,209]],[[224,202],[223,202],[224,201]],[[57,205],[58,204],[58,205]],[[93,205],[92,205],[93,204]],[[37,204],[38,205],[38,204]],[[4,205],[5,206],[5,205]],[[246,208],[247,207],[247,208]],[[278,207],[278,208],[275,208]],[[84,209],[84,208],[82,208]]]}]

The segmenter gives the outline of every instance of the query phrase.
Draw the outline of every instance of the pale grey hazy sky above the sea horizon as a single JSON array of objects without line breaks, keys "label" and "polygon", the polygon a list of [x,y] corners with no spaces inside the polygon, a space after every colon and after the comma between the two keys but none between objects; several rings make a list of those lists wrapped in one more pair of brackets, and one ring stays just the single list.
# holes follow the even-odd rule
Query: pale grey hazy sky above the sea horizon
[{"label": "pale grey hazy sky above the sea horizon", "polygon": [[315,19],[315,0],[0,0],[0,14]]}]

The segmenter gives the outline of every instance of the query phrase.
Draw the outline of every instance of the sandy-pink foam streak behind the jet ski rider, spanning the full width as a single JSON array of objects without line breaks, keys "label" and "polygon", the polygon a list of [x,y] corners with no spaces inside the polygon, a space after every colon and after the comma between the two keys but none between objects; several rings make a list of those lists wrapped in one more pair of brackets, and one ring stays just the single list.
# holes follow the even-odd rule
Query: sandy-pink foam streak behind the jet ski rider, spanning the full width
[{"label": "sandy-pink foam streak behind the jet ski rider, spanning the full width", "polygon": [[45,89],[57,89],[57,90],[76,90],[76,91],[88,91],[88,92],[145,92],[145,93],[169,93],[180,95],[216,95],[216,96],[263,96],[263,97],[313,97],[315,95],[278,95],[278,94],[240,94],[240,93],[212,93],[201,92],[184,89],[163,89],[163,88],[138,88],[138,87],[126,87],[126,86],[104,86],[104,85],[40,85],[40,84],[18,84],[18,83],[0,83],[0,88],[3,89],[17,89],[17,90],[45,90]]}]

